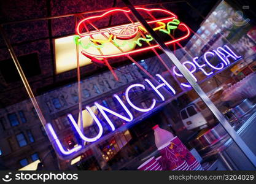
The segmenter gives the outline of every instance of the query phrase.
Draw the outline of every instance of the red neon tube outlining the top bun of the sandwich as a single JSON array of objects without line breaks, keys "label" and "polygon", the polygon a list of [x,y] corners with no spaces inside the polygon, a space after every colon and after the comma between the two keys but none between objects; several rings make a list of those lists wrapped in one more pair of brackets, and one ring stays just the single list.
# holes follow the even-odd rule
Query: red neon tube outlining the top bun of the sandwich
[{"label": "red neon tube outlining the top bun of the sandwich", "polygon": [[[145,10],[146,12],[152,12],[152,11],[158,11],[158,12],[165,12],[165,13],[168,13],[169,15],[171,15],[172,17],[169,17],[169,18],[177,18],[177,15],[175,15],[174,13],[172,12],[169,12],[168,10],[164,10],[164,9],[145,9],[145,8],[141,8],[141,7],[136,7],[135,9],[137,10]],[[90,35],[90,33],[80,33],[80,30],[79,30],[79,27],[82,23],[84,23],[85,21],[88,21],[88,20],[93,20],[93,19],[98,19],[98,18],[102,18],[102,17],[105,17],[106,15],[112,13],[112,12],[125,12],[125,13],[129,13],[131,12],[131,10],[124,10],[124,9],[112,9],[112,10],[109,10],[105,13],[103,13],[102,15],[98,15],[98,16],[92,16],[92,17],[87,17],[87,18],[84,18],[83,20],[79,21],[79,23],[77,24],[77,28],[76,28],[76,34],[78,34],[79,36],[87,36],[87,35]],[[169,19],[168,18],[168,19]],[[160,21],[160,20],[158,20]],[[149,22],[150,23],[150,22]],[[139,25],[141,25],[140,23],[138,23]],[[134,24],[133,24],[134,25]],[[82,30],[82,29],[81,29]]]}]

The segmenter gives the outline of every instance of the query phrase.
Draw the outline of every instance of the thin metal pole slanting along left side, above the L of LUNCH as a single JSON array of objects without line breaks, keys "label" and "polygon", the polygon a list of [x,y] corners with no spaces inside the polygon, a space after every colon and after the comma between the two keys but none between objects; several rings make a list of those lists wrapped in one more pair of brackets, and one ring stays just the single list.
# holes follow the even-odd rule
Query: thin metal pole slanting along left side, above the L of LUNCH
[{"label": "thin metal pole slanting along left side, above the L of LUNCH", "polygon": [[14,60],[14,64],[17,68],[18,73],[20,74],[21,80],[26,88],[26,91],[28,92],[28,96],[31,99],[32,104],[34,105],[34,108],[36,109],[37,115],[39,117],[39,120],[42,123],[42,126],[46,125],[46,120],[44,118],[44,115],[42,114],[42,111],[39,107],[39,105],[37,104],[36,98],[34,97],[33,91],[31,90],[28,80],[26,80],[26,76],[20,66],[20,63],[18,62],[18,58],[15,55],[14,49],[12,48],[12,45],[10,44],[9,39],[7,39],[6,37],[6,33],[4,31],[4,28],[2,26],[0,26],[0,32],[2,34],[2,38],[4,39],[4,42],[6,42],[8,51],[10,53],[10,56],[12,56],[12,59]]}]

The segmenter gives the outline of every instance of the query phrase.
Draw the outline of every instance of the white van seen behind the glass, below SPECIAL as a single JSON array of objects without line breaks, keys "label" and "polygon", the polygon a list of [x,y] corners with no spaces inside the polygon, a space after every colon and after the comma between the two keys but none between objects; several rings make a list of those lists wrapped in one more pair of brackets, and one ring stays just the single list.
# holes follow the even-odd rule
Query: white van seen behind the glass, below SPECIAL
[{"label": "white van seen behind the glass, below SPECIAL", "polygon": [[190,130],[194,128],[206,128],[207,121],[203,117],[200,109],[195,104],[190,104],[184,109],[180,110],[180,118],[184,126]]}]

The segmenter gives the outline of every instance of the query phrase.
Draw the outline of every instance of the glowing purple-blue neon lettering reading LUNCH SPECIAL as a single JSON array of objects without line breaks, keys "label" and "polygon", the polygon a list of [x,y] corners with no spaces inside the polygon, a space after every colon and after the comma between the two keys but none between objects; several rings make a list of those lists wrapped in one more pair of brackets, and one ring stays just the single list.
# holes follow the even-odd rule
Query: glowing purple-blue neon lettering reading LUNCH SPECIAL
[{"label": "glowing purple-blue neon lettering reading LUNCH SPECIAL", "polygon": [[[205,52],[201,57],[204,59],[203,60],[204,63],[198,62],[199,60],[198,56],[193,58],[192,61],[185,61],[184,63],[182,63],[183,66],[188,70],[188,72],[190,73],[190,75],[192,75],[193,79],[196,82],[198,81],[194,75],[196,71],[201,71],[203,72],[204,75],[206,75],[206,77],[208,77],[209,75],[213,75],[215,71],[220,71],[225,67],[229,66],[231,64],[230,59],[233,59],[233,63],[235,63],[235,61],[238,61],[238,59],[242,58],[242,56],[236,55],[236,53],[233,52],[233,50],[231,50],[231,48],[228,47],[227,45],[223,45],[223,47],[217,47],[217,49],[215,50]],[[219,61],[218,64],[214,65],[213,63],[210,63],[210,60],[213,57],[218,59]],[[211,71],[206,72],[206,67],[211,69]],[[131,96],[133,94],[131,91],[134,88],[141,89],[141,90],[146,90],[146,88],[150,88],[151,90],[153,90],[155,95],[161,99],[162,102],[165,101],[166,98],[160,92],[160,88],[165,88],[166,90],[169,91],[169,93],[175,96],[176,90],[173,88],[173,86],[171,86],[160,74],[156,74],[155,76],[156,76],[156,79],[154,80],[155,81],[154,83],[156,83],[157,81],[157,85],[154,85],[152,80],[144,79],[144,84],[135,83],[133,85],[128,86],[128,88],[126,88],[125,90],[126,104],[138,112],[145,113],[145,112],[150,112],[150,110],[155,108],[155,105],[157,105],[157,102],[160,102],[160,101],[157,101],[157,99],[152,98],[152,101],[149,107],[147,108],[139,107],[138,105],[134,104],[133,100],[131,99]],[[173,67],[173,76],[182,77],[182,75],[177,71],[177,68],[175,66]],[[190,85],[188,85],[187,83],[180,83],[180,86],[185,86],[187,88],[190,87]],[[114,110],[104,107],[104,105],[101,105],[98,102],[94,102],[94,105],[97,107],[101,115],[103,115],[103,118],[104,120],[106,120],[106,123],[109,126],[109,128],[111,128],[111,131],[115,131],[115,123],[112,122],[111,118],[109,118],[109,115],[107,115],[107,113],[125,121],[126,123],[129,123],[134,120],[133,114],[129,110],[130,108],[128,108],[125,105],[122,99],[120,99],[120,97],[117,94],[114,94],[113,98],[117,100],[118,104],[120,105],[120,107],[122,107],[123,112],[125,112],[126,115],[121,115],[120,113],[115,112]],[[96,126],[98,126],[98,133],[95,137],[86,137],[82,133],[82,131],[79,129],[74,117],[71,114],[68,114],[68,118],[70,120],[73,130],[76,132],[76,134],[78,134],[80,140],[83,140],[85,142],[95,142],[96,140],[100,139],[103,136],[103,125],[101,124],[101,120],[99,120],[97,115],[95,115],[95,113],[93,112],[93,110],[90,109],[89,106],[86,106],[85,109],[88,111],[88,113],[90,113],[91,117],[96,123]],[[63,158],[69,158],[69,156],[76,154],[79,150],[82,149],[83,147],[82,145],[77,145],[71,150],[69,150],[68,148],[64,148],[60,140],[58,139],[58,136],[56,135],[56,132],[54,131],[52,125],[50,125],[50,123],[47,124],[46,129],[51,139],[53,140],[53,142],[55,142],[54,145],[56,150],[61,156],[63,156]]]}]

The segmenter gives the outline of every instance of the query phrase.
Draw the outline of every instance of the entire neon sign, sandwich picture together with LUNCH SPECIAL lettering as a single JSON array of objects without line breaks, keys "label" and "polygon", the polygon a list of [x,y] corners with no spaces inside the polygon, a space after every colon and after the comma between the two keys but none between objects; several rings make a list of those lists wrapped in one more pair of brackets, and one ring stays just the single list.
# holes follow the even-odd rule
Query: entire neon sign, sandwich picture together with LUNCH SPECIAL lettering
[{"label": "entire neon sign, sandwich picture together with LUNCH SPECIAL lettering", "polygon": [[[174,39],[174,40],[165,42],[166,45],[185,39],[190,34],[188,27],[185,24],[180,23],[180,21],[177,20],[177,16],[167,10],[143,9],[143,8],[136,8],[136,9],[143,10],[146,12],[151,12],[151,13],[153,11],[168,13],[169,15],[168,18],[149,22],[150,24],[151,23],[157,24],[157,27],[154,28],[155,31],[160,31],[163,34],[169,34],[171,29],[177,29],[180,27],[182,28],[183,32],[186,33],[183,37],[180,37],[179,39]],[[128,53],[142,52],[144,50],[149,50],[149,49],[158,47],[158,45],[151,45],[151,46],[147,45],[146,47],[140,48],[142,46],[142,42],[151,42],[153,39],[152,37],[147,36],[147,34],[146,34],[146,38],[141,37],[140,31],[144,31],[145,33],[145,30],[144,28],[142,28],[142,26],[139,23],[117,26],[115,28],[98,29],[98,31],[91,31],[91,32],[88,31],[87,33],[82,33],[82,28],[80,28],[80,26],[87,23],[87,21],[93,20],[95,18],[96,19],[101,18],[111,13],[117,13],[117,12],[130,13],[130,10],[114,9],[104,13],[103,15],[85,18],[79,22],[76,30],[77,36],[74,37],[74,40],[76,44],[81,45],[82,48],[84,49],[82,50],[83,55],[89,56],[89,57],[97,57],[97,58],[109,58],[109,57],[126,55]],[[106,39],[104,40],[94,39],[93,35],[95,34],[108,35],[108,37],[106,37]],[[87,40],[90,41],[90,42],[87,42],[87,45],[83,45],[81,40],[83,39],[83,37],[85,37]],[[133,39],[134,37],[136,37],[136,39],[134,39],[133,42],[130,42],[130,43],[126,42],[128,39]],[[123,43],[120,45],[117,39],[123,40]],[[115,45],[115,47],[116,46],[122,47],[124,43],[125,43],[124,45],[126,46],[128,45],[128,47],[130,47],[131,45],[129,46],[129,44],[133,44],[132,47],[136,45],[139,48],[135,50],[130,50],[125,53],[114,53],[112,55],[108,55],[108,54],[95,55],[93,52],[91,52],[91,50],[87,50],[90,48],[96,48],[96,49],[103,48],[106,46],[105,45],[106,43],[111,43]],[[203,55],[200,56],[200,58],[203,59],[203,62],[199,62],[199,57],[196,56],[195,58],[192,59],[192,61],[185,61],[184,63],[182,63],[183,66],[188,70],[189,74],[193,77],[193,79],[196,82],[198,82],[198,79],[196,79],[195,77],[196,72],[202,72],[204,75],[206,75],[206,77],[210,75],[214,75],[216,72],[221,71],[222,69],[225,69],[225,67],[241,59],[242,56],[236,55],[236,53],[233,50],[231,50],[231,48],[228,47],[228,45],[223,45],[223,47],[217,47],[215,50],[211,50],[203,53]],[[217,59],[218,63],[215,65],[212,64],[210,62],[212,58]],[[177,71],[177,68],[175,66],[173,67],[172,71],[173,71],[173,77],[182,77],[182,74],[180,74],[179,71]],[[158,82],[157,85],[154,84],[155,81]],[[190,85],[188,83],[180,83],[180,86],[190,88]],[[155,93],[156,98],[159,98],[161,100],[157,101],[156,98],[152,98],[149,107],[141,107],[134,104],[131,98],[133,96],[132,90],[133,89],[147,90],[146,88],[149,90],[152,90]],[[123,121],[123,123],[132,122],[134,120],[134,117],[130,109],[133,109],[136,112],[146,113],[146,112],[150,112],[155,107],[157,107],[157,103],[162,103],[166,101],[166,97],[160,91],[161,88],[165,88],[165,90],[167,90],[173,96],[175,96],[176,94],[176,90],[173,88],[173,86],[171,86],[166,81],[166,79],[164,79],[160,74],[155,75],[155,79],[144,79],[143,83],[134,83],[133,85],[128,86],[125,90],[125,102],[117,94],[114,94],[113,98],[116,99],[116,101],[118,102],[118,105],[120,105],[120,108],[122,108],[125,114],[123,113],[120,114],[118,112],[115,112],[114,110],[109,109],[108,107],[105,107],[103,104],[99,104],[98,102],[94,102],[94,105],[98,109],[99,113],[101,113],[102,117],[104,118],[104,121],[106,121],[107,126],[111,128],[111,131],[115,131],[116,129],[115,122],[113,122],[112,120],[113,118],[111,118],[109,115],[119,118],[120,120]],[[80,130],[79,126],[77,125],[77,121],[75,120],[75,118],[71,114],[68,114],[67,117],[70,121],[70,125],[72,126],[72,129],[74,130],[74,133],[78,135],[77,139],[80,140],[79,142],[95,142],[99,140],[101,137],[103,137],[103,125],[101,123],[102,120],[98,118],[98,116],[93,112],[93,110],[91,110],[89,106],[86,106],[85,109],[88,111],[90,116],[95,121],[96,126],[98,126],[98,132],[95,135],[95,137],[85,136],[85,134],[83,134],[83,132]],[[47,123],[45,127],[48,132],[48,135],[50,136],[50,139],[52,139],[53,146],[55,147],[56,151],[59,153],[59,155],[62,158],[70,159],[74,155],[79,154],[82,148],[84,147],[81,144],[71,149],[65,148],[63,144],[61,144],[61,141],[58,138],[58,135],[56,134],[52,125],[50,123]]]}]

